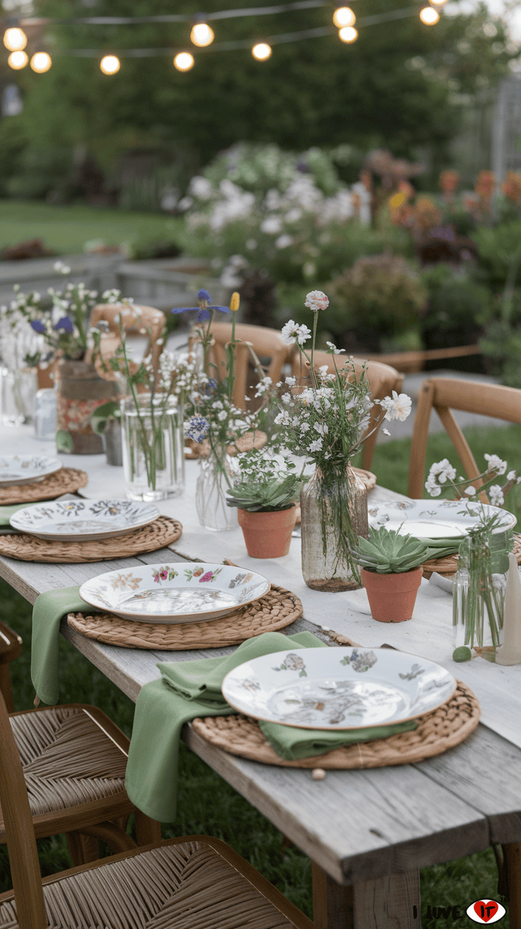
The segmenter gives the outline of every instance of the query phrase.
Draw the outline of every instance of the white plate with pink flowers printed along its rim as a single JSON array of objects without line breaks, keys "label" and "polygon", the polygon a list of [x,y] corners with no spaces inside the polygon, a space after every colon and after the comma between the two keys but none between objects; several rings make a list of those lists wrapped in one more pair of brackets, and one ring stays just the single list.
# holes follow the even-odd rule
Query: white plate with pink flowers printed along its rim
[{"label": "white plate with pink flowers printed along its rim", "polygon": [[253,603],[270,586],[255,571],[187,561],[109,571],[82,584],[80,596],[126,620],[202,622]]}]

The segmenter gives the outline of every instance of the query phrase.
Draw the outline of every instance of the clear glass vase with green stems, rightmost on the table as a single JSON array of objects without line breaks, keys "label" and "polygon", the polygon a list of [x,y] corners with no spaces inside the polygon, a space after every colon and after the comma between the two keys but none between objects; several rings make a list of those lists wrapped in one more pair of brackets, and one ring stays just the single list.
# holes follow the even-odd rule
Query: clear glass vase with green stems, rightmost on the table
[{"label": "clear glass vase with green stems, rightmost on the table", "polygon": [[460,545],[452,598],[454,649],[474,648],[482,658],[495,660],[496,648],[502,645],[512,545],[512,530],[494,533],[486,541],[467,537]]}]

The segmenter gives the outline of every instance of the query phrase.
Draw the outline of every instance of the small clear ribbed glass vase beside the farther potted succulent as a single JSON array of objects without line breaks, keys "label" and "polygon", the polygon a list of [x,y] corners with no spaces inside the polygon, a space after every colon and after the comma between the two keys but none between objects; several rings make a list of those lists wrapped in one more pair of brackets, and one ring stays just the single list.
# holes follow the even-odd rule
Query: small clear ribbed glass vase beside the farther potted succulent
[{"label": "small clear ribbed glass vase beside the farther potted succulent", "polygon": [[200,458],[197,478],[196,506],[199,521],[204,529],[231,530],[239,526],[237,507],[227,506],[226,498],[233,484],[233,465],[225,449],[210,451]]}]

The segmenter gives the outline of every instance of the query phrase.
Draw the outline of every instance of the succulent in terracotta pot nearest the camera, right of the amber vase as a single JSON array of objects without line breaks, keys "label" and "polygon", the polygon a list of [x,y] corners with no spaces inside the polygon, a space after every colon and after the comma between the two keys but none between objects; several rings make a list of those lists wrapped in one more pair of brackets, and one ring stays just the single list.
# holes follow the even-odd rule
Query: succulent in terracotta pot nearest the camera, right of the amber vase
[{"label": "succulent in terracotta pot nearest the camera, right of the amber vase", "polygon": [[422,582],[422,563],[428,546],[421,539],[401,535],[398,530],[371,526],[369,539],[358,536],[354,553],[361,568],[371,615],[378,622],[410,620],[418,588]]}]

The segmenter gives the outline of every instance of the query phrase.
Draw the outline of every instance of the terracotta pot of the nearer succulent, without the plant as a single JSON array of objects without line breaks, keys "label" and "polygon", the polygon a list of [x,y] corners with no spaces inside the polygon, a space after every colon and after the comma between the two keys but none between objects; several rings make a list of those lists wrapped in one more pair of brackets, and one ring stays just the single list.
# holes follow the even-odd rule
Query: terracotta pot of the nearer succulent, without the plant
[{"label": "terracotta pot of the nearer succulent, without the plant", "polygon": [[423,568],[403,571],[401,574],[377,574],[361,569],[362,583],[367,591],[371,616],[378,622],[404,622],[410,620],[418,587],[422,582]]}]

